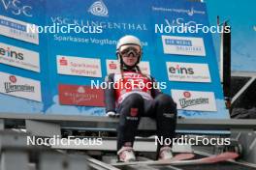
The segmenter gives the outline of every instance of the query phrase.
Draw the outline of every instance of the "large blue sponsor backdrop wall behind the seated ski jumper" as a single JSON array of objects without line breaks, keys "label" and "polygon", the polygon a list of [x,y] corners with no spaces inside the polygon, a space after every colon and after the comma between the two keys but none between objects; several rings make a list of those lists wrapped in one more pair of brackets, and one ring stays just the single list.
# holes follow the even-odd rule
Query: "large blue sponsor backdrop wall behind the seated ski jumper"
[{"label": "large blue sponsor backdrop wall behind the seated ski jumper", "polygon": [[[142,71],[165,83],[161,90],[176,100],[179,116],[229,118],[211,33],[169,30],[208,26],[204,3],[1,0],[0,11],[0,71],[6,73],[1,78],[16,76],[24,85],[12,95],[1,84],[1,112],[104,116],[102,91],[87,88],[92,80],[101,83],[107,73],[118,72],[116,41],[129,34],[143,42]],[[26,33],[28,25],[40,27],[42,33]],[[68,33],[63,26],[85,31]],[[32,82],[40,93],[28,98],[21,91]]]}]

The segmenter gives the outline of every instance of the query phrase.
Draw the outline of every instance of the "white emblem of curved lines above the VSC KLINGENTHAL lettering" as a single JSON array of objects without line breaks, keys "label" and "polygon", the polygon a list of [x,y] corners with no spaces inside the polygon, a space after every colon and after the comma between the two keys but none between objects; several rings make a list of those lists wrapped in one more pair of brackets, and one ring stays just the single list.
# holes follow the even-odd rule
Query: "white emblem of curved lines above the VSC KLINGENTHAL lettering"
[{"label": "white emblem of curved lines above the VSC KLINGENTHAL lettering", "polygon": [[109,16],[109,11],[102,0],[94,2],[88,12],[97,16]]}]

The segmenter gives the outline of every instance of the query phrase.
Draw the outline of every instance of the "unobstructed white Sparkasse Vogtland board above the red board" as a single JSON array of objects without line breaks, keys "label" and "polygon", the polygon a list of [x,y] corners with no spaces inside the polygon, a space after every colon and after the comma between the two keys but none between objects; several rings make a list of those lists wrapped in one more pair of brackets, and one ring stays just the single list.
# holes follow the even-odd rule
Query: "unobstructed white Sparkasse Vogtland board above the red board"
[{"label": "unobstructed white Sparkasse Vogtland board above the red board", "polygon": [[59,74],[102,77],[101,60],[57,55]]}]

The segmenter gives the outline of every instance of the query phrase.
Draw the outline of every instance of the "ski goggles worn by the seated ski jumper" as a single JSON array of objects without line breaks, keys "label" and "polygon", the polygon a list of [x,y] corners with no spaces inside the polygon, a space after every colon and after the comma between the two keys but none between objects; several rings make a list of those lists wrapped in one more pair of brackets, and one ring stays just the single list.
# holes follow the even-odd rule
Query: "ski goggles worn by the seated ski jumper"
[{"label": "ski goggles worn by the seated ski jumper", "polygon": [[120,47],[119,52],[123,57],[128,57],[130,54],[138,57],[141,55],[141,47],[136,44],[125,44]]}]

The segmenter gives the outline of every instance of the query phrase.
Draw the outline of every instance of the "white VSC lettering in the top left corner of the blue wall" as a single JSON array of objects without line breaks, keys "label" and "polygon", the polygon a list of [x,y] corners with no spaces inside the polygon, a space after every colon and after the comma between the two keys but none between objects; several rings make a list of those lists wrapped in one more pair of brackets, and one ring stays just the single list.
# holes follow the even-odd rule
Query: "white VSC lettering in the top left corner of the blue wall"
[{"label": "white VSC lettering in the top left corner of the blue wall", "polygon": [[32,7],[27,5],[22,5],[19,0],[1,0],[2,5],[6,11],[10,11],[12,14],[23,14],[28,17],[32,17],[31,14]]}]

